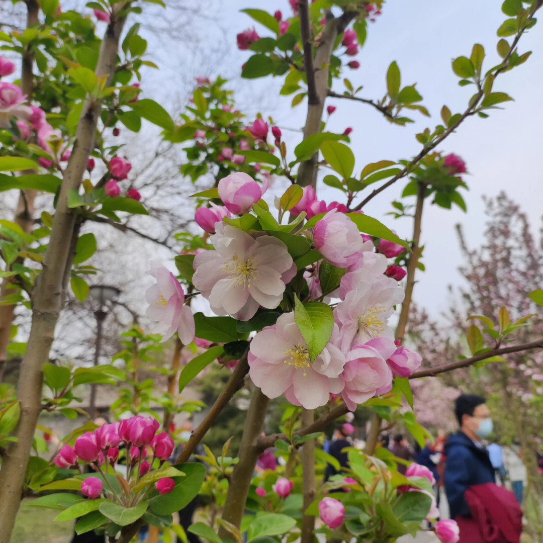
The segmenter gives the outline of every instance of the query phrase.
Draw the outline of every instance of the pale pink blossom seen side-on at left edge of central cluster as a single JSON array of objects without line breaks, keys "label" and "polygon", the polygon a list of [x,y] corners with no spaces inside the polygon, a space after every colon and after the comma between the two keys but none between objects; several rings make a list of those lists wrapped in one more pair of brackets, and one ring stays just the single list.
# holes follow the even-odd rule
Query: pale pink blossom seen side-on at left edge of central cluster
[{"label": "pale pink blossom seen side-on at left edge of central cluster", "polygon": [[181,343],[188,345],[194,338],[194,316],[191,308],[184,305],[185,292],[174,274],[164,266],[151,263],[147,273],[156,279],[145,292],[149,307],[147,316],[155,321],[155,333],[162,334],[161,342],[179,334]]}]

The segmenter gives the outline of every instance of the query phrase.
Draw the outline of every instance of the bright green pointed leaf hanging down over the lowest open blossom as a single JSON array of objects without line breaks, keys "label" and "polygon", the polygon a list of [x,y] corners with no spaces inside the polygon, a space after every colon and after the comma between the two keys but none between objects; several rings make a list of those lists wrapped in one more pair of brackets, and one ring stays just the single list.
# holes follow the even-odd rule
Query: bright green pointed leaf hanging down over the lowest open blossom
[{"label": "bright green pointed leaf hanging down over the lowest open blossom", "polygon": [[332,308],[322,302],[302,302],[294,298],[294,320],[307,344],[311,362],[325,348],[332,336],[334,315]]}]

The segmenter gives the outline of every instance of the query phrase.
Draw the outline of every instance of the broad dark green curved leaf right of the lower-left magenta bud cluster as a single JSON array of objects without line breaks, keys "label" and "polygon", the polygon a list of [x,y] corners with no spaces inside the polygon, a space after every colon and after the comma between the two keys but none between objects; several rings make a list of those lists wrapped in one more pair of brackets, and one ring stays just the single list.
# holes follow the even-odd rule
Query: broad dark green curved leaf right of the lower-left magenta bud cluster
[{"label": "broad dark green curved leaf right of the lower-left magenta bud cluster", "polygon": [[173,478],[175,488],[171,493],[155,496],[149,500],[151,511],[157,515],[169,515],[184,508],[198,494],[204,482],[206,468],[203,464],[190,462],[174,467],[187,475]]}]

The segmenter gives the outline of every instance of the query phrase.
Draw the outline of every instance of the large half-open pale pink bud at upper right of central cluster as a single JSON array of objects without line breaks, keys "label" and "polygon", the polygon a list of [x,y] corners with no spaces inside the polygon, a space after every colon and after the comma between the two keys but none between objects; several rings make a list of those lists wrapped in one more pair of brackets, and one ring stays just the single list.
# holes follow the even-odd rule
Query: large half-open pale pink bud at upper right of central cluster
[{"label": "large half-open pale pink bud at upper right of central cluster", "polygon": [[359,260],[364,242],[356,224],[345,214],[332,210],[315,224],[313,243],[331,264],[347,268]]}]

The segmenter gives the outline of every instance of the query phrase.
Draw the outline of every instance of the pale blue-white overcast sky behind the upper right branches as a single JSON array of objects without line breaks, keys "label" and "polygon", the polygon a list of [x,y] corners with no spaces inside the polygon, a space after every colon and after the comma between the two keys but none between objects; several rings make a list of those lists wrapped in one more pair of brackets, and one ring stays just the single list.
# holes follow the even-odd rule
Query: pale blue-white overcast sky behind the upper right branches
[{"label": "pale blue-white overcast sky behind the upper right branches", "polygon": [[[239,12],[243,8],[261,8],[273,12],[281,9],[285,16],[291,14],[286,0],[271,3],[269,0],[208,0],[213,20],[207,18],[194,22],[192,31],[201,43],[212,47],[227,45],[222,56],[207,62],[193,62],[191,70],[203,70],[200,75],[226,75],[232,79],[239,107],[246,112],[271,115],[281,127],[300,129],[305,120],[306,102],[290,108],[291,97],[279,96],[282,78],[271,77],[255,81],[239,79],[241,65],[248,52],[237,50],[235,36],[249,26],[255,26],[261,36],[269,35],[266,28]],[[380,99],[386,92],[385,74],[395,60],[400,67],[402,86],[416,83],[424,98],[423,104],[432,117],[413,115],[415,123],[407,127],[391,125],[380,113],[364,104],[348,100],[329,99],[327,104],[337,106],[327,126],[331,131],[342,132],[351,126],[352,149],[356,156],[355,174],[369,162],[383,159],[409,159],[420,150],[414,135],[426,127],[440,123],[439,112],[446,104],[453,113],[466,108],[473,87],[459,87],[453,74],[451,60],[459,55],[469,56],[473,43],[481,43],[487,53],[483,69],[498,63],[496,29],[506,18],[502,14],[501,0],[472,2],[435,2],[418,0],[405,2],[389,0],[382,15],[369,24],[368,39],[356,57],[361,62],[359,70],[345,70],[355,87],[363,85],[361,95]],[[214,8],[216,11],[212,12]],[[205,15],[205,12],[202,13]],[[452,211],[427,206],[422,225],[422,243],[425,245],[426,273],[418,277],[414,298],[434,316],[446,307],[447,285],[459,285],[457,267],[461,256],[454,225],[464,226],[471,247],[482,242],[484,229],[482,195],[496,195],[505,190],[528,214],[534,233],[539,231],[543,210],[543,175],[541,173],[541,147],[543,136],[543,24],[540,22],[526,33],[519,52],[533,50],[528,61],[515,70],[502,74],[494,84],[494,91],[507,92],[514,102],[504,104],[503,110],[493,110],[488,119],[469,118],[441,144],[438,150],[454,152],[463,157],[470,175],[466,175],[470,191],[464,194],[468,213],[457,207]],[[194,49],[193,49],[194,51]],[[190,56],[191,49],[183,51]],[[195,53],[194,53],[195,54]],[[200,54],[201,56],[201,54]],[[186,57],[185,57],[186,58]],[[166,59],[165,59],[166,60]],[[188,59],[187,59],[188,60]],[[207,73],[206,73],[207,71]],[[186,77],[186,73],[183,74]],[[342,92],[343,84],[336,89]],[[298,132],[283,131],[292,150],[300,141]],[[399,197],[406,181],[373,199],[364,211],[379,218],[400,236],[411,237],[408,220],[394,220],[385,216],[390,211],[390,201]],[[285,185],[286,186],[286,185]],[[278,182],[277,190],[282,187]],[[319,195],[326,200],[340,200],[342,194],[330,187],[319,186]],[[414,200],[414,198],[412,198]]]}]

